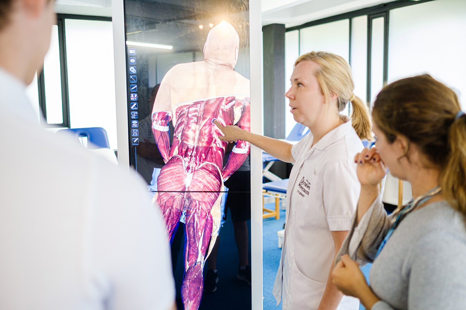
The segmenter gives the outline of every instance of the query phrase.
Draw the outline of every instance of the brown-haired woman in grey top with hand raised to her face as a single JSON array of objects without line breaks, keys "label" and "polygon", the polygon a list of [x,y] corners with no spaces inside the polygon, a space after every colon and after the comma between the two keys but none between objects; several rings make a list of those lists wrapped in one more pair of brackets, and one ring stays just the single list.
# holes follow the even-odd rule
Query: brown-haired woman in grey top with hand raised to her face
[{"label": "brown-haired woman in grey top with hand raised to her face", "polygon": [[[377,145],[355,157],[361,195],[333,271],[338,288],[368,310],[465,309],[464,114],[456,94],[429,75],[377,95]],[[386,167],[411,183],[414,197],[390,216],[378,187]],[[370,287],[358,267],[367,262]]]}]

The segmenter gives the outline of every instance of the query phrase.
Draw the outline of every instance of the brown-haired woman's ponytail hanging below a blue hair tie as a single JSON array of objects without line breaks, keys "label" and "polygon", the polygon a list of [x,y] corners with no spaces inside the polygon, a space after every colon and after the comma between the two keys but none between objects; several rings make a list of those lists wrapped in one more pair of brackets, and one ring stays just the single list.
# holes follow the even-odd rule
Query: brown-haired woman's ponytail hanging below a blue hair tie
[{"label": "brown-haired woman's ponytail hanging below a blue hair tie", "polygon": [[456,119],[448,132],[449,156],[440,176],[445,200],[466,216],[466,116]]}]

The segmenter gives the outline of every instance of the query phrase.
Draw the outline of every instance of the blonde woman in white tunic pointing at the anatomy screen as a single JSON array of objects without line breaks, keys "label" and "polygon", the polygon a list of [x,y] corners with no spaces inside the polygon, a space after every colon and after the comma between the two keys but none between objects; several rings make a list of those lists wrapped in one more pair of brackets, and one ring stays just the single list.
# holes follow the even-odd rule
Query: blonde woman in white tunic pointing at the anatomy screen
[{"label": "blonde woman in white tunic pointing at the anatomy screen", "polygon": [[[295,62],[285,96],[296,122],[310,133],[296,145],[222,126],[225,141],[248,141],[294,163],[287,190],[284,245],[274,285],[284,310],[358,309],[329,275],[335,254],[351,227],[360,185],[354,156],[361,139],[372,139],[367,106],[353,94],[348,63],[340,56],[311,52]],[[351,120],[341,115],[352,104]]]}]

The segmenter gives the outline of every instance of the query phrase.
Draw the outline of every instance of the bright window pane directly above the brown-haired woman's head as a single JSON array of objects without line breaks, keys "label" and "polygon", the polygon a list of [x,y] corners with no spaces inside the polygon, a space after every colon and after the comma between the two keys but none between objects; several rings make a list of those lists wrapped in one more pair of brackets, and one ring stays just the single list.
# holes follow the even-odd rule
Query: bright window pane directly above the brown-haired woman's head
[{"label": "bright window pane directly above the brown-haired woman's head", "polygon": [[464,0],[430,1],[391,10],[389,82],[429,73],[452,87],[466,108],[465,16]]}]

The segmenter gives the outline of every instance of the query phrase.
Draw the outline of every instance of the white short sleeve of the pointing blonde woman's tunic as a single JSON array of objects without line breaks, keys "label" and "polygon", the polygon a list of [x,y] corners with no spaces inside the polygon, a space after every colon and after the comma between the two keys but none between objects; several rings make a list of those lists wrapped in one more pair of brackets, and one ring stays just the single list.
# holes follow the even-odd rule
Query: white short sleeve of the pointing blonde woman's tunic
[{"label": "white short sleeve of the pointing blonde woman's tunic", "polygon": [[330,231],[348,231],[361,191],[355,164],[345,160],[327,167],[322,191]]}]

